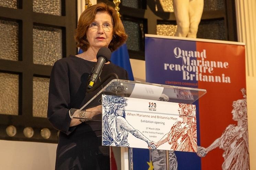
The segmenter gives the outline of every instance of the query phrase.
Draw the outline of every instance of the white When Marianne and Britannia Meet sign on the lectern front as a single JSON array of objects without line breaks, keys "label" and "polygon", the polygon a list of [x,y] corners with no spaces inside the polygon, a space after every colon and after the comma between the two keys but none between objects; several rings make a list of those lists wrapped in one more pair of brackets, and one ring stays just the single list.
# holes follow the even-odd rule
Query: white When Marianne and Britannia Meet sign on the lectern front
[{"label": "white When Marianne and Britannia Meet sign on the lectern front", "polygon": [[197,152],[196,106],[102,95],[102,145]]}]

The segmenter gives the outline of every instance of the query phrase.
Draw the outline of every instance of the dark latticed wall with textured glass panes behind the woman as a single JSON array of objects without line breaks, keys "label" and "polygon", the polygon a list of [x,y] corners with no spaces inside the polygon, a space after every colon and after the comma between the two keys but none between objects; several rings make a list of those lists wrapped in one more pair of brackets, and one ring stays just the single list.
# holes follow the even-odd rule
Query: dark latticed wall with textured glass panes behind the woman
[{"label": "dark latticed wall with textured glass panes behind the woman", "polygon": [[[119,7],[130,58],[145,60],[144,34],[175,34],[172,0]],[[234,1],[204,0],[197,37],[237,41],[235,21]],[[76,24],[76,0],[0,0],[0,139],[57,142],[46,118],[49,76],[55,61],[76,54]]]}]

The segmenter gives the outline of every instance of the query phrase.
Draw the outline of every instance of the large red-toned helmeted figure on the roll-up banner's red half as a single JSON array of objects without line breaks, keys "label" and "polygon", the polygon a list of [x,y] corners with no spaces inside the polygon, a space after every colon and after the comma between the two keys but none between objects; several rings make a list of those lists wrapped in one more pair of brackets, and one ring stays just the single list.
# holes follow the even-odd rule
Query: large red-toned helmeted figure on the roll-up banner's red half
[{"label": "large red-toned helmeted figure on the roll-up banner's red half", "polygon": [[237,121],[237,125],[227,126],[221,137],[207,148],[198,146],[197,155],[200,157],[206,156],[216,147],[223,149],[223,170],[249,169],[246,91],[244,88],[241,91],[244,99],[234,101],[231,112],[233,120]]}]

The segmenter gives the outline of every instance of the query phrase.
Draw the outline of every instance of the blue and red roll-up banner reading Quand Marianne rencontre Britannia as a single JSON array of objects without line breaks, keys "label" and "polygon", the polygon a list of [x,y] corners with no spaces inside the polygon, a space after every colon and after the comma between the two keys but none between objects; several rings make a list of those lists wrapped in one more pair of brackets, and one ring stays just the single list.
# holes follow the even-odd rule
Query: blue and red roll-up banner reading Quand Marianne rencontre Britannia
[{"label": "blue and red roll-up banner reading Quand Marianne rencontre Britannia", "polygon": [[[169,169],[249,169],[245,44],[146,35],[145,62],[147,82],[207,90],[193,103],[198,151],[173,152]],[[154,169],[159,169],[157,161]]]}]

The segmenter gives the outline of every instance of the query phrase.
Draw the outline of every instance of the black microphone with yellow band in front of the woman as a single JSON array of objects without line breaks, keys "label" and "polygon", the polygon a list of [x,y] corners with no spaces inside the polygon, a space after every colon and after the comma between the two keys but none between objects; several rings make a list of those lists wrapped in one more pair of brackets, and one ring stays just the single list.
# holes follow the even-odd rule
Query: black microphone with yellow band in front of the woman
[{"label": "black microphone with yellow band in front of the woman", "polygon": [[90,78],[89,78],[89,85],[87,87],[88,89],[91,89],[92,86],[96,83],[96,81],[100,77],[100,74],[101,74],[104,64],[110,60],[110,57],[111,57],[111,51],[109,48],[101,47],[99,49],[99,51],[97,53],[97,62],[91,70],[91,74],[90,74]]}]

